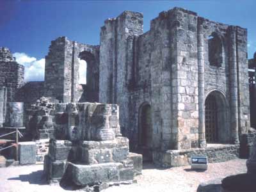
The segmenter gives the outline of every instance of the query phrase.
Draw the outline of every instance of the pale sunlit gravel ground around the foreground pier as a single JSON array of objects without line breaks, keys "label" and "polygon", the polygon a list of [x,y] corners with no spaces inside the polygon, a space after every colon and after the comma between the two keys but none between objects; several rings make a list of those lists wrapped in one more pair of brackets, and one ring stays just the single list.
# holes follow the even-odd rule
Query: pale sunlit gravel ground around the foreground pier
[{"label": "pale sunlit gravel ground around the foreground pier", "polygon": [[[131,185],[113,186],[104,192],[126,191],[196,191],[200,182],[213,179],[223,179],[228,175],[245,173],[244,159],[236,159],[223,163],[209,163],[208,170],[196,172],[190,166],[180,166],[169,169],[157,169],[152,164],[145,164],[142,175],[136,177],[137,183]],[[42,192],[42,191],[67,191],[58,184],[49,186],[43,177],[43,165],[13,166],[0,168],[1,192]],[[83,191],[83,190],[79,190]],[[102,191],[102,192],[103,192]]]}]

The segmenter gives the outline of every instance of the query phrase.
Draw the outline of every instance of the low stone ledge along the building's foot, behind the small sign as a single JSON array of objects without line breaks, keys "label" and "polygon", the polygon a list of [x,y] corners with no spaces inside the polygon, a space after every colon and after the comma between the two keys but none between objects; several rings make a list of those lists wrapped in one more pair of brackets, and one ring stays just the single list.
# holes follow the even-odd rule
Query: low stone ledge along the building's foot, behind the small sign
[{"label": "low stone ledge along the building's foot, behind the small sign", "polygon": [[228,161],[239,157],[239,145],[208,144],[205,148],[153,152],[154,162],[163,167],[188,165],[191,156],[207,156],[209,163]]}]

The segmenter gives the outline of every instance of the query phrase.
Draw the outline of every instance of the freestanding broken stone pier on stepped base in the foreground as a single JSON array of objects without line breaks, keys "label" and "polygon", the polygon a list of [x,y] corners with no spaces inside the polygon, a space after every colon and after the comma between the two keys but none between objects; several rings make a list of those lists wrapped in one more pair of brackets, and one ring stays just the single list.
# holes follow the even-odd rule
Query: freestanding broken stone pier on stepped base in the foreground
[{"label": "freestanding broken stone pier on stepped base in the foreground", "polygon": [[131,183],[141,173],[142,156],[129,153],[116,104],[56,104],[52,115],[56,138],[44,159],[49,182],[99,187]]}]

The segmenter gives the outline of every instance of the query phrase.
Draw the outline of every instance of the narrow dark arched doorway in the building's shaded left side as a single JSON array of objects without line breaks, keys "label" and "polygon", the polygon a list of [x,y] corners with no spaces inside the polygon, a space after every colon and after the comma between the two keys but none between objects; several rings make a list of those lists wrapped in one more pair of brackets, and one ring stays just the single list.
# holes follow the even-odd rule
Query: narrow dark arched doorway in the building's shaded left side
[{"label": "narrow dark arched doorway in the building's shaded left side", "polygon": [[143,161],[152,161],[152,114],[150,104],[142,104],[139,113],[139,148]]}]

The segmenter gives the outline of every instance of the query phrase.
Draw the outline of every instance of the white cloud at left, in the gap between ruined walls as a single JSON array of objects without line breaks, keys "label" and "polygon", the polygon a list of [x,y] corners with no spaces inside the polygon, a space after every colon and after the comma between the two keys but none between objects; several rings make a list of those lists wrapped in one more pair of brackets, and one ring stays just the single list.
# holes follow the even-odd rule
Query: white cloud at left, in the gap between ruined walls
[{"label": "white cloud at left, in the gap between ruined walls", "polygon": [[45,59],[37,60],[34,57],[28,56],[24,52],[15,52],[13,56],[17,63],[24,65],[25,75],[24,79],[28,81],[44,81]]}]

